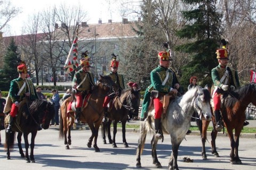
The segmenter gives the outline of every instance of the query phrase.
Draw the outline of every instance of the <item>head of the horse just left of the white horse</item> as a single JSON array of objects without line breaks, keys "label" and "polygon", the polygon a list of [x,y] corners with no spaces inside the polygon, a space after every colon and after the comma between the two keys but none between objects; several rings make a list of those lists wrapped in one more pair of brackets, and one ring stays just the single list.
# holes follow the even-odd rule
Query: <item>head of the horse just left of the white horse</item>
[{"label": "head of the horse just left of the white horse", "polygon": [[126,97],[126,103],[130,107],[131,112],[134,115],[138,115],[139,113],[139,106],[140,106],[140,89],[134,90],[131,89],[129,90],[129,93]]}]

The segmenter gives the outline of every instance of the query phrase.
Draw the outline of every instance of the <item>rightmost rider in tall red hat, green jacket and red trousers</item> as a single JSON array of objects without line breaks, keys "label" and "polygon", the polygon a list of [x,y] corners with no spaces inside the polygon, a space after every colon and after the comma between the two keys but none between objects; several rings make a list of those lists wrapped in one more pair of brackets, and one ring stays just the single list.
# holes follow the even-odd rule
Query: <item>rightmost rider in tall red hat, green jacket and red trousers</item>
[{"label": "rightmost rider in tall red hat, green jacket and red trousers", "polygon": [[[212,69],[212,80],[214,83],[214,91],[213,91],[213,103],[214,103],[214,116],[216,121],[216,130],[222,130],[221,124],[221,115],[220,115],[220,106],[221,106],[221,96],[222,94],[227,91],[229,88],[230,90],[235,90],[240,86],[238,74],[236,70],[230,69],[228,64],[228,49],[227,44],[228,42],[225,39],[221,40],[222,48],[217,49],[217,59],[219,65]],[[245,121],[244,125],[249,124]]]}]

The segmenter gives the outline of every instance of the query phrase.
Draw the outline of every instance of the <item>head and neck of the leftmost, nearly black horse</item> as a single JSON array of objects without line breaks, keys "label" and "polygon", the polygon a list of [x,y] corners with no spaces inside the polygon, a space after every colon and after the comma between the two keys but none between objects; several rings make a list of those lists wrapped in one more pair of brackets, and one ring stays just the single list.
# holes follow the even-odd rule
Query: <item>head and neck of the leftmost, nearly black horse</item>
[{"label": "head and neck of the leftmost, nearly black horse", "polygon": [[[48,129],[50,122],[54,116],[53,105],[43,99],[37,99],[29,107],[31,115],[35,115],[37,124],[42,124],[43,129]],[[38,117],[36,117],[36,115]]]}]

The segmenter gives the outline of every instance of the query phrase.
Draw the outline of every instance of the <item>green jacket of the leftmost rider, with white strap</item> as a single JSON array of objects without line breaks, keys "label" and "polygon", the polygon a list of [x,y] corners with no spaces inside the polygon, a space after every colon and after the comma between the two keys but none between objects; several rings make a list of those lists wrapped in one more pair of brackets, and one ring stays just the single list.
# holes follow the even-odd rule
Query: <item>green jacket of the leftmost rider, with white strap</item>
[{"label": "green jacket of the leftmost rider, with white strap", "polygon": [[24,97],[26,97],[25,94],[27,92],[30,92],[31,100],[38,99],[36,89],[34,87],[33,82],[30,79],[27,79],[28,84],[26,83],[26,86],[22,89],[20,95],[18,96],[18,92],[20,91],[24,82],[26,81],[22,78],[14,79],[11,81],[9,96],[12,100],[12,103],[15,103],[15,101],[20,102]]}]

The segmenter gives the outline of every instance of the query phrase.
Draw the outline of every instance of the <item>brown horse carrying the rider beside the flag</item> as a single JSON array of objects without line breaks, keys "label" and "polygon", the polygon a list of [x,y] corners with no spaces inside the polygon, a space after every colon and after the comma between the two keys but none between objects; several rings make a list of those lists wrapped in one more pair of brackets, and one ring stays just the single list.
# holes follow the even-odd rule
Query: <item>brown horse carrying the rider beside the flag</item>
[{"label": "brown horse carrying the rider beside the flag", "polygon": [[[87,123],[92,131],[92,135],[89,138],[87,143],[87,147],[91,148],[92,140],[94,138],[93,147],[96,152],[99,152],[100,149],[97,146],[97,138],[99,127],[103,118],[103,102],[105,97],[111,91],[117,91],[117,86],[113,82],[113,80],[105,75],[104,77],[100,75],[100,80],[92,91],[91,97],[87,101],[87,106],[83,108],[80,121],[83,123]],[[69,149],[69,145],[71,145],[71,135],[70,129],[74,124],[74,112],[67,114],[67,106],[70,102],[71,98],[67,98],[63,101],[60,106],[61,116],[60,116],[60,131],[59,137],[65,138],[65,146],[66,149]],[[68,140],[67,140],[67,132],[68,132]]]}]

